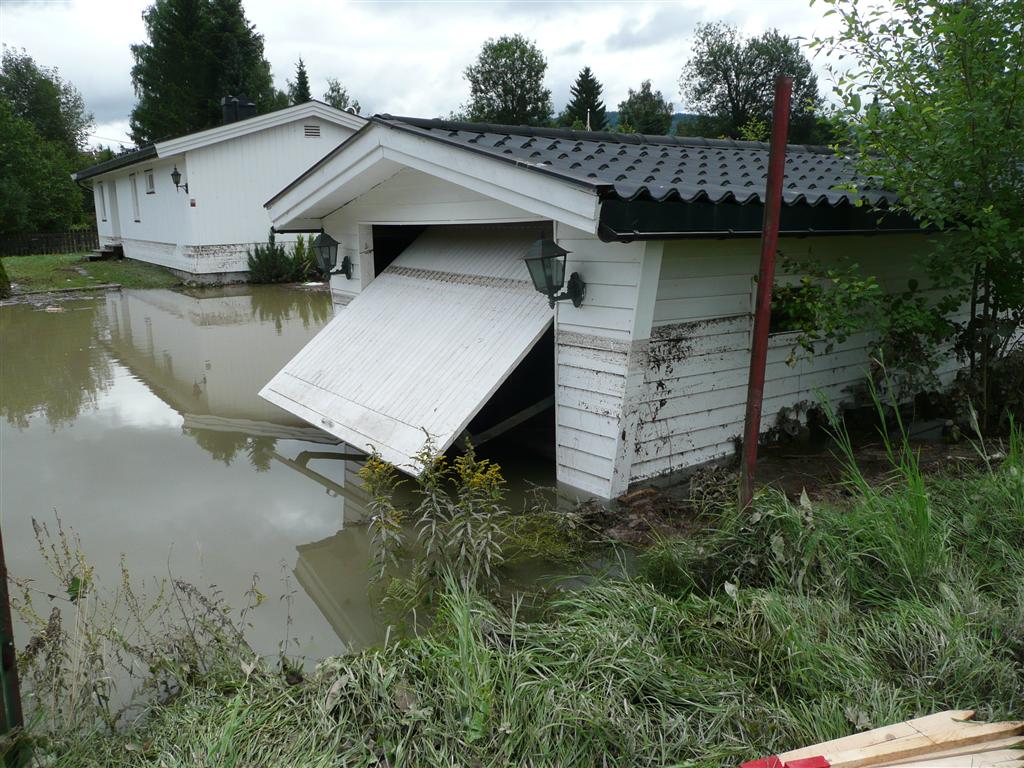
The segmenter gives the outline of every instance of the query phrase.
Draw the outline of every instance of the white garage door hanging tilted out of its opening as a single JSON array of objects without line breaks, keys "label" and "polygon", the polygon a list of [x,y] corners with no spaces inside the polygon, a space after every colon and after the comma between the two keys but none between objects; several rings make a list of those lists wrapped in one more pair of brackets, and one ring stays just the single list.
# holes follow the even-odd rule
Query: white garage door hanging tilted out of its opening
[{"label": "white garage door hanging tilted out of its opening", "polygon": [[447,449],[551,325],[522,260],[536,239],[427,229],[260,395],[418,471],[426,434]]}]

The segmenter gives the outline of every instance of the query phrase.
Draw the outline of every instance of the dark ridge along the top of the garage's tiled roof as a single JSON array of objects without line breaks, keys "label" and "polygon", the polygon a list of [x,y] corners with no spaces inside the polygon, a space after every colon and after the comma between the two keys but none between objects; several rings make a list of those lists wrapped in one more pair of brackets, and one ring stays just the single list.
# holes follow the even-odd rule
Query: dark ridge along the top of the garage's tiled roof
[{"label": "dark ridge along the top of the garage's tiled roof", "polygon": [[[614,131],[581,131],[574,128],[548,128],[531,125],[503,125],[500,123],[472,123],[440,118],[413,118],[387,113],[374,115],[371,120],[383,123],[406,123],[416,128],[428,130],[467,131],[475,133],[507,133],[517,136],[538,136],[542,138],[563,138],[577,141],[608,141],[618,144],[665,144],[670,146],[709,146],[724,150],[768,151],[766,141],[741,141],[731,138],[708,138],[706,136],[667,136],[649,133],[616,133]],[[787,144],[790,148],[817,155],[835,155],[831,146],[823,144]]]}]

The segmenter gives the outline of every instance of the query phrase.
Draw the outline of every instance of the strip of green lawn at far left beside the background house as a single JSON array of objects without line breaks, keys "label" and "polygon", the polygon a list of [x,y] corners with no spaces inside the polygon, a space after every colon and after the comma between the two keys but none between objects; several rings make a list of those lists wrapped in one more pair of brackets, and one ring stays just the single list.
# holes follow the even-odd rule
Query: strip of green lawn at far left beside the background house
[{"label": "strip of green lawn at far left beside the background house", "polygon": [[[168,269],[141,261],[87,261],[87,254],[8,256],[4,268],[19,292],[50,291],[60,288],[89,288],[118,283],[124,288],[171,288],[180,283]],[[82,274],[79,270],[84,270]]]}]

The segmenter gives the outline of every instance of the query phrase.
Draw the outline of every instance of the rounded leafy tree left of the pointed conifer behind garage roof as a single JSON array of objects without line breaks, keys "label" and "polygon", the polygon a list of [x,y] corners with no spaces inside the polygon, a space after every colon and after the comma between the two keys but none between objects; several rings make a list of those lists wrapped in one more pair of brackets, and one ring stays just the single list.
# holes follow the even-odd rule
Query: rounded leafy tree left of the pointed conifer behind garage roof
[{"label": "rounded leafy tree left of the pointed conifer behind garage roof", "polygon": [[487,40],[476,63],[466,68],[472,121],[504,125],[547,125],[551,91],[544,87],[548,62],[522,35]]}]

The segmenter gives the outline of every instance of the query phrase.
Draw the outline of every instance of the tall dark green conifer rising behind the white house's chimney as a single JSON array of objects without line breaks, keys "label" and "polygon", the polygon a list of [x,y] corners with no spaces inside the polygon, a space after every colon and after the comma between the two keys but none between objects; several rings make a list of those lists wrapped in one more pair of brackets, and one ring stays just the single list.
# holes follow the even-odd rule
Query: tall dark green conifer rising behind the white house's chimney
[{"label": "tall dark green conifer rising behind the white house's chimney", "polygon": [[223,96],[252,99],[261,113],[282,105],[242,0],[156,0],[142,18],[146,42],[131,46],[136,143],[219,125]]}]

